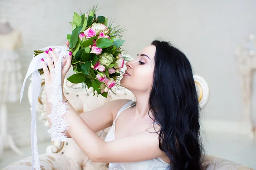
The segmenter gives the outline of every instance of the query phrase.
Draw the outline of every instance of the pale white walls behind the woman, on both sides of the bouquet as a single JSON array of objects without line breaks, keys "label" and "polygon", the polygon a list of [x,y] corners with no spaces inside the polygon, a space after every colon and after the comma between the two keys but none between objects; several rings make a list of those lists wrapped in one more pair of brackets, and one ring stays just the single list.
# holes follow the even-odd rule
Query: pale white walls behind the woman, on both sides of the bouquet
[{"label": "pale white walls behind the woman, on both sides of the bouquet", "polygon": [[[208,119],[241,118],[234,54],[236,47],[255,33],[255,0],[5,0],[7,20],[23,33],[24,45],[19,50],[22,74],[26,74],[34,49],[65,43],[73,11],[87,11],[97,2],[102,8],[97,15],[116,18],[116,25],[129,30],[124,38],[128,54],[137,56],[145,45],[162,37],[187,55],[195,74],[204,77],[211,88],[204,111]],[[19,145],[30,143],[29,107],[26,95],[21,105],[9,104],[9,130]],[[41,121],[37,127],[39,140],[49,140]]]}]

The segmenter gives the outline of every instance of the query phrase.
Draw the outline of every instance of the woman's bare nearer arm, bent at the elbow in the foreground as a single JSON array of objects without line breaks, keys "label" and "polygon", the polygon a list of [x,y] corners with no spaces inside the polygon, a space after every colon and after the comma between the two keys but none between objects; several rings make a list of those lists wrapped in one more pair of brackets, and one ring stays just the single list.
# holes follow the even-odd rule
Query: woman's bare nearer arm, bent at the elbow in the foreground
[{"label": "woman's bare nearer arm, bent at the elbow in the foreground", "polygon": [[[116,103],[116,101],[113,101]],[[111,107],[114,107],[114,105]],[[158,146],[158,134],[154,128],[136,135],[105,142],[79,116],[70,103],[66,118],[70,124],[68,133],[84,153],[94,162],[133,162],[164,156]],[[92,114],[93,115],[93,114]]]}]

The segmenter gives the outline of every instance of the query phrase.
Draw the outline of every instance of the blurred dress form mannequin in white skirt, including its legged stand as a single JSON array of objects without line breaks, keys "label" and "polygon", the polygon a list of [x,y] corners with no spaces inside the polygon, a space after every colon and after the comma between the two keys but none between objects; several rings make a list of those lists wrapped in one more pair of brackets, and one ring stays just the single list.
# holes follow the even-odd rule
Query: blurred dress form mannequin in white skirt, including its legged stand
[{"label": "blurred dress form mannequin in white skirt, including its legged stand", "polygon": [[18,54],[15,51],[21,45],[21,34],[13,30],[8,22],[0,22],[0,158],[4,144],[18,155],[23,153],[15,145],[7,131],[7,102],[19,99],[22,75]]}]

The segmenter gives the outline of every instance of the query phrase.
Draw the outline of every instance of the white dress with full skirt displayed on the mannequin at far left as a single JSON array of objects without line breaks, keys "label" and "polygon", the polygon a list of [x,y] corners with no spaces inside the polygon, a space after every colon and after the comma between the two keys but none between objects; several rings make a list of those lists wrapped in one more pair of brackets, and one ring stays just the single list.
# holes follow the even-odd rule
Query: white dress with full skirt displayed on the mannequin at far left
[{"label": "white dress with full skirt displayed on the mannequin at far left", "polygon": [[0,103],[17,102],[22,86],[17,48],[22,44],[19,31],[0,34]]}]

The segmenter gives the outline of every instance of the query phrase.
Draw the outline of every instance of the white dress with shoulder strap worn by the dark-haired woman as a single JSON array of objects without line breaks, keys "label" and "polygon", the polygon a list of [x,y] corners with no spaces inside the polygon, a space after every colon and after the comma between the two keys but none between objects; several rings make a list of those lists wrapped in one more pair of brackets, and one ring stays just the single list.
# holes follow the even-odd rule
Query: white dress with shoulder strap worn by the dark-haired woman
[{"label": "white dress with shoulder strap worn by the dark-haired woman", "polygon": [[[124,111],[131,107],[131,104],[134,101],[130,101],[126,103],[117,113],[116,119]],[[105,142],[109,142],[115,140],[115,127],[116,127],[116,119],[113,122],[112,127],[108,131],[107,136],[105,137]],[[170,164],[163,161],[161,158],[155,158],[146,161],[137,161],[137,162],[116,162],[109,163],[109,170],[170,170]]]}]

